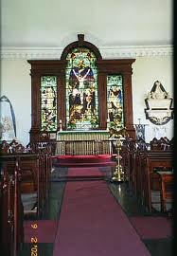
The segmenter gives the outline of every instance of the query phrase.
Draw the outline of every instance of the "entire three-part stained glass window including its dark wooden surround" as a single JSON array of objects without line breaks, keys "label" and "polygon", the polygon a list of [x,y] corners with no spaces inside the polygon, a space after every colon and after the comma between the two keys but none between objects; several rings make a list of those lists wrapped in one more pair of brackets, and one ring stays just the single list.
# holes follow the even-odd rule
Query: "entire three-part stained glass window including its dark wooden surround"
[{"label": "entire three-part stained glass window including its dark wooden surround", "polygon": [[72,130],[74,134],[80,130],[97,130],[92,134],[99,134],[107,130],[108,118],[109,127],[126,127],[130,137],[135,138],[134,61],[103,59],[97,46],[85,41],[84,34],[78,34],[77,41],[64,47],[61,60],[28,60],[30,141],[40,141],[44,131],[49,139],[56,139],[61,128],[68,136]]}]

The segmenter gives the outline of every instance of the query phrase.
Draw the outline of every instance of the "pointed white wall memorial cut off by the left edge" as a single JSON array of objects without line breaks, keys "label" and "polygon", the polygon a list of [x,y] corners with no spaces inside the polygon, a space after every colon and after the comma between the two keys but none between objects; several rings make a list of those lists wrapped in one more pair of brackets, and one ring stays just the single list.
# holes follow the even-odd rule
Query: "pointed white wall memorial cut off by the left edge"
[{"label": "pointed white wall memorial cut off by the left edge", "polygon": [[0,98],[0,139],[11,141],[16,137],[16,121],[13,107],[8,97]]}]

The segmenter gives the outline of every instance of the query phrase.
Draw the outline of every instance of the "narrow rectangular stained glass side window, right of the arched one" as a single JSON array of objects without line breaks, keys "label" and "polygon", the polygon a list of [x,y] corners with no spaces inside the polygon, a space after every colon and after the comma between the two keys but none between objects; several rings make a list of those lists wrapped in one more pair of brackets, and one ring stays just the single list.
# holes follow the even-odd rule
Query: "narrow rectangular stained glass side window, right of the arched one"
[{"label": "narrow rectangular stained glass side window, right of the arched one", "polygon": [[108,125],[115,129],[124,127],[123,77],[107,76]]}]

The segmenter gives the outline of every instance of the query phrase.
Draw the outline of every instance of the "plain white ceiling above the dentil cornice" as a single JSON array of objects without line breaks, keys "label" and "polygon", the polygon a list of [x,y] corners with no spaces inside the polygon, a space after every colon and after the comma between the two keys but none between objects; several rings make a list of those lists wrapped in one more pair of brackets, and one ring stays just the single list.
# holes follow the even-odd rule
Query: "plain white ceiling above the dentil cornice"
[{"label": "plain white ceiling above the dentil cornice", "polygon": [[1,0],[1,46],[172,44],[172,0]]}]

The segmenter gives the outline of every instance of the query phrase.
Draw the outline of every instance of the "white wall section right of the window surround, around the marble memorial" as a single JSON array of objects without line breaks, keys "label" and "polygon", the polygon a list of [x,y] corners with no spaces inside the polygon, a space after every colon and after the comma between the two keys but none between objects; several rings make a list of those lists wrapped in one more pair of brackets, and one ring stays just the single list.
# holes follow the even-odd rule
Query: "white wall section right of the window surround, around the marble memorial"
[{"label": "white wall section right of the window surround, around the marble memorial", "polygon": [[173,98],[172,57],[141,57],[133,63],[133,121],[148,124],[145,129],[145,138],[150,141],[158,136],[156,131],[164,137],[173,137],[173,120],[165,125],[154,125],[145,116],[145,99],[155,81],[160,81],[169,96]]}]

